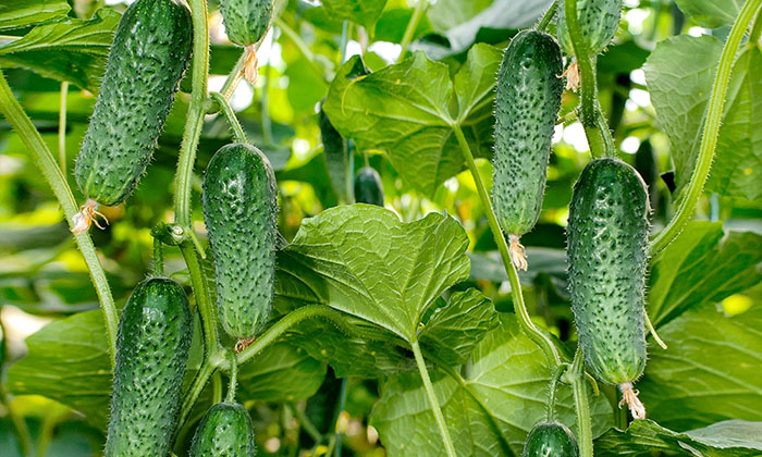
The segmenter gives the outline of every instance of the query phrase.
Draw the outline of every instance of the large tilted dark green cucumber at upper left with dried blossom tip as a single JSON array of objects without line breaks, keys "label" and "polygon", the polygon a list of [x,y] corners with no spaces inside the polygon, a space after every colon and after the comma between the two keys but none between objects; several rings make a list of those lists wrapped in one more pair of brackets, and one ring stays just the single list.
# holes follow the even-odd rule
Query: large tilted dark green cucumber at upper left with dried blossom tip
[{"label": "large tilted dark green cucumber at upper left with dried blossom tip", "polygon": [[122,15],[76,161],[86,197],[119,205],[143,177],[190,61],[192,27],[175,0],[138,0]]}]

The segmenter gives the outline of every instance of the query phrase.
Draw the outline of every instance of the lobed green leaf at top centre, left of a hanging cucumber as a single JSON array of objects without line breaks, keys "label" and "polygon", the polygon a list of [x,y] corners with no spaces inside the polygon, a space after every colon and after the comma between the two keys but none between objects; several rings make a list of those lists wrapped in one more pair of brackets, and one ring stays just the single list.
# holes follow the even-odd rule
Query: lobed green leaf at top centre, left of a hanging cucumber
[{"label": "lobed green leaf at top centre, left of a hanging cucumber", "polygon": [[501,57],[491,46],[472,47],[454,82],[447,65],[422,52],[360,77],[354,76],[361,65],[356,57],[339,70],[324,110],[342,136],[354,138],[360,149],[385,150],[407,183],[433,195],[463,169],[454,122],[464,127],[476,155],[490,153]]}]

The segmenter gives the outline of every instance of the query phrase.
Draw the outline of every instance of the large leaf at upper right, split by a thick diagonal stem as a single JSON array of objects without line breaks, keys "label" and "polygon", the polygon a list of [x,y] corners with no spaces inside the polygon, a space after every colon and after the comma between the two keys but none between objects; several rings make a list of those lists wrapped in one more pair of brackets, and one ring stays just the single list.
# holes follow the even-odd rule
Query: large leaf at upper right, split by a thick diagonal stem
[{"label": "large leaf at upper right, split by a thick diagonal stem", "polygon": [[[680,35],[660,42],[648,58],[646,79],[659,121],[669,137],[678,192],[690,181],[722,42]],[[723,124],[706,190],[732,197],[762,196],[762,51],[743,48],[734,64]]]}]

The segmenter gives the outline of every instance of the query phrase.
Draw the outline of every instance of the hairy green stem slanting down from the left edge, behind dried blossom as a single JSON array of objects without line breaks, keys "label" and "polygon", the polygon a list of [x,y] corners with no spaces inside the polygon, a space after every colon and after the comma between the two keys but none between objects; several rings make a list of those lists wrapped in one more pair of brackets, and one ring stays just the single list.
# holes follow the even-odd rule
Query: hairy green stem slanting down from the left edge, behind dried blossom
[{"label": "hairy green stem slanting down from the left edge, behind dried blossom", "polygon": [[[42,172],[42,176],[48,182],[53,190],[53,195],[58,199],[63,213],[66,215],[66,222],[70,227],[74,227],[72,218],[79,211],[72,195],[72,189],[66,184],[66,178],[61,172],[59,164],[56,163],[52,152],[42,140],[39,132],[35,128],[29,116],[24,112],[19,101],[13,97],[11,88],[8,86],[5,76],[0,71],[0,112],[2,112],[13,129],[19,134],[26,149],[32,153],[35,164]],[[100,307],[103,311],[103,322],[106,324],[106,334],[109,341],[109,354],[111,355],[111,367],[114,366],[116,354],[116,328],[119,326],[119,318],[116,308],[114,307],[113,297],[109,283],[106,280],[106,273],[98,260],[93,239],[89,234],[83,233],[74,235],[77,247],[85,258],[87,270],[90,273],[90,279],[95,285],[96,293],[100,300]]]}]

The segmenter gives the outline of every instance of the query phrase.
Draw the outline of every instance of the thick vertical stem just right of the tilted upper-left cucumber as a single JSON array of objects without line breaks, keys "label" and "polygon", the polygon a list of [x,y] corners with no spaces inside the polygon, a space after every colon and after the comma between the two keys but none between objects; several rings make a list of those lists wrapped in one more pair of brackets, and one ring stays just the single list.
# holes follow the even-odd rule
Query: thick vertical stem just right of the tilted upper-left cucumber
[{"label": "thick vertical stem just right of the tilted upper-left cucumber", "polygon": [[[190,201],[193,192],[193,166],[196,148],[201,136],[207,102],[207,78],[209,75],[209,24],[207,1],[188,0],[193,18],[193,67],[190,104],[185,119],[183,143],[177,159],[175,175],[174,218],[181,226],[193,230]],[[196,288],[194,287],[194,292]]]}]

